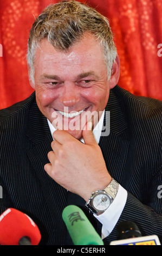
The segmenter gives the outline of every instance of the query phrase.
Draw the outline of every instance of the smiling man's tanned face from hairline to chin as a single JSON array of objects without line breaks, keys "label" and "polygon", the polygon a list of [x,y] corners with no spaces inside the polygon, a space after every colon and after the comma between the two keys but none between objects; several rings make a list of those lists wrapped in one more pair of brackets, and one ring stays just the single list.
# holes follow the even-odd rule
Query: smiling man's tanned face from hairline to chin
[{"label": "smiling man's tanned face from hairline to chin", "polygon": [[[99,117],[109,97],[101,45],[87,34],[63,52],[42,40],[35,53],[34,88],[43,115],[55,127],[80,139],[90,113]],[[92,118],[93,125],[98,117]]]}]

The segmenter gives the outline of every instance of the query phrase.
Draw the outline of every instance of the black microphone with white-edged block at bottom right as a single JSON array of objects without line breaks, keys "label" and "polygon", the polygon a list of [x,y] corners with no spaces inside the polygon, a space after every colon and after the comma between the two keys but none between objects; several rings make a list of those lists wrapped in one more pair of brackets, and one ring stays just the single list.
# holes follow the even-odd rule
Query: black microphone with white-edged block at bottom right
[{"label": "black microphone with white-edged block at bottom right", "polygon": [[110,245],[160,245],[157,235],[142,236],[138,226],[132,221],[123,221],[116,227],[118,240]]}]

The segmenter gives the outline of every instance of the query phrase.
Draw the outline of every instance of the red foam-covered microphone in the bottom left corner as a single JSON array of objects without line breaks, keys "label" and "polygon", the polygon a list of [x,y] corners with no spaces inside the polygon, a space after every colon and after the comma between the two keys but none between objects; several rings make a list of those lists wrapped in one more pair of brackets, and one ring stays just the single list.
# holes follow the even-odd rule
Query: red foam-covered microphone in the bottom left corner
[{"label": "red foam-covered microphone in the bottom left corner", "polygon": [[40,230],[31,218],[14,208],[0,216],[1,245],[38,245]]}]

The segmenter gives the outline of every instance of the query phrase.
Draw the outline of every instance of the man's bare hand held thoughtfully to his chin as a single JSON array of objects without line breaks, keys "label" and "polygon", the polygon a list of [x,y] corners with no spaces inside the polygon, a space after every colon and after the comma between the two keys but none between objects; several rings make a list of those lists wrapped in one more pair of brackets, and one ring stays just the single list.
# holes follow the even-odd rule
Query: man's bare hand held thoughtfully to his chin
[{"label": "man's bare hand held thoughtfully to his chin", "polygon": [[85,144],[66,131],[56,130],[51,143],[53,151],[48,153],[50,163],[44,166],[51,178],[86,202],[92,192],[102,190],[112,180],[101,149],[87,125],[82,132]]}]

